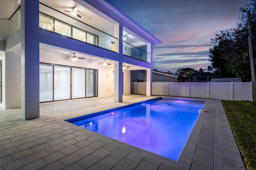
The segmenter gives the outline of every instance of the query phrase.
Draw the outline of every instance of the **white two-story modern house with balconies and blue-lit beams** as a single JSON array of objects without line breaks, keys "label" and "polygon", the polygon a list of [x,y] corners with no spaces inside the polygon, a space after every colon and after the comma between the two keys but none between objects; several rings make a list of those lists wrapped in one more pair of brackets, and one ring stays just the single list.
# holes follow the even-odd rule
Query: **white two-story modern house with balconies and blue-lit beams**
[{"label": "white two-story modern house with balconies and blue-lit beams", "polygon": [[1,3],[0,107],[21,107],[32,119],[40,102],[113,95],[122,102],[130,70],[146,70],[152,94],[152,46],[160,41],[107,0]]}]

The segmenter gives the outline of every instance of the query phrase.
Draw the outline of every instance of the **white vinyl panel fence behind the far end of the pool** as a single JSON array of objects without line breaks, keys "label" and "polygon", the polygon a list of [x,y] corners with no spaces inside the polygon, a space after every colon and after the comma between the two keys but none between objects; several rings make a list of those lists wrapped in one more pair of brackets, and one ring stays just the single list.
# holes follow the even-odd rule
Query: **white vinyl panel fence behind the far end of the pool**
[{"label": "white vinyl panel fence behind the far end of the pool", "polygon": [[[146,82],[131,82],[131,93],[146,94]],[[252,82],[152,82],[152,95],[253,101]]]}]

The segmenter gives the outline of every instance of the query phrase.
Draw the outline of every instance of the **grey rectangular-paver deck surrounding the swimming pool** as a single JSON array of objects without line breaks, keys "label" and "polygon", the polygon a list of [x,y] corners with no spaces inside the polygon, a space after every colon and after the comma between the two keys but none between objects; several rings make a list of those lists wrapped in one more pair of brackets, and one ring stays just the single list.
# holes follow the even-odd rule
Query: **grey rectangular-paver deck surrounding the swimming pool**
[{"label": "grey rectangular-paver deck surrounding the swimming pool", "polygon": [[40,104],[40,117],[26,121],[20,109],[0,109],[0,170],[246,170],[220,100],[206,99],[206,112],[200,113],[178,161],[64,121],[157,97]]}]

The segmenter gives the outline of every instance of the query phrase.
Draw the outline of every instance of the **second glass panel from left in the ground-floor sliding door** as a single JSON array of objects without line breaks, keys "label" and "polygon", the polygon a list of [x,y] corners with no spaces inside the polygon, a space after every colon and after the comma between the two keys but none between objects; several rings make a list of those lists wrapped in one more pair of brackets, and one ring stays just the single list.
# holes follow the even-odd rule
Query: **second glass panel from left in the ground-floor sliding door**
[{"label": "second glass panel from left in the ground-floor sliding door", "polygon": [[70,99],[70,67],[54,66],[54,100]]}]

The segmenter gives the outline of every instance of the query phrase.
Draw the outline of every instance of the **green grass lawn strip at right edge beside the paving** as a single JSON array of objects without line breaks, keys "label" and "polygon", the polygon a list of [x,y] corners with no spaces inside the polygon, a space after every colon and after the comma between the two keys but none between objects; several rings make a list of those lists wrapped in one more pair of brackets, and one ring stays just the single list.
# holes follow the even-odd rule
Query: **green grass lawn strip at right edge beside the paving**
[{"label": "green grass lawn strip at right edge beside the paving", "polygon": [[256,104],[222,101],[236,143],[248,170],[256,170]]}]

